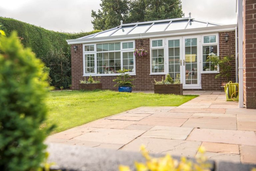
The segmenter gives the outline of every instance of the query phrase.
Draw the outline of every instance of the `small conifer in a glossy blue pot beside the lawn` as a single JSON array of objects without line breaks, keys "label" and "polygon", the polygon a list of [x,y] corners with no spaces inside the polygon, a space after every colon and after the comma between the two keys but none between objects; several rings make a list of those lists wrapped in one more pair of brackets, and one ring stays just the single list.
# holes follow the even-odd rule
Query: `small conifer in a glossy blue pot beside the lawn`
[{"label": "small conifer in a glossy blue pot beside the lawn", "polygon": [[117,76],[116,79],[114,79],[113,81],[116,82],[117,84],[114,85],[114,87],[118,86],[118,91],[119,92],[132,92],[132,87],[134,87],[134,85],[131,83],[133,80],[135,79],[131,79],[131,76],[129,74],[126,74],[126,72],[128,72],[130,70],[127,69],[120,69],[118,71],[118,73],[120,73],[120,75]]}]

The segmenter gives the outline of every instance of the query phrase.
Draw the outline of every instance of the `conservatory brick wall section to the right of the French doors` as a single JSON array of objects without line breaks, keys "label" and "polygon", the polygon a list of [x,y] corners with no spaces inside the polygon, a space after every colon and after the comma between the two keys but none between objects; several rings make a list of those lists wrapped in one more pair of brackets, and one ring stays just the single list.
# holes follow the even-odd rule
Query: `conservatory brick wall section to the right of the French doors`
[{"label": "conservatory brick wall section to the right of the French doors", "polygon": [[[225,41],[225,34],[228,33],[229,39],[228,42]],[[219,33],[219,56],[233,56],[233,60],[231,61],[232,65],[232,76],[230,78],[230,81],[235,82],[236,75],[235,75],[235,31],[229,31],[229,32],[220,32]],[[223,88],[220,88],[222,82],[227,82],[224,77],[219,77],[215,79],[215,76],[217,74],[201,74],[201,90],[223,90]]]}]

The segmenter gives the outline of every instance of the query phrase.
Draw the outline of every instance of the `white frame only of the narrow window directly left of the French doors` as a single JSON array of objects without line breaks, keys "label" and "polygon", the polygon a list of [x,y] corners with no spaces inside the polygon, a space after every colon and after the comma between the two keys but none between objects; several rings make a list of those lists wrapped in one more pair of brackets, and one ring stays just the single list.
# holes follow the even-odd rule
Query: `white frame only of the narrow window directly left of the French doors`
[{"label": "white frame only of the narrow window directly left of the French doors", "polygon": [[[152,47],[153,45],[153,41],[154,40],[162,40],[163,42],[163,46],[156,46],[156,47]],[[163,49],[164,50],[164,72],[152,72],[152,50],[156,50],[156,49]],[[150,39],[150,74],[149,75],[166,75],[166,48],[165,48],[165,38],[154,38],[154,39]]]}]

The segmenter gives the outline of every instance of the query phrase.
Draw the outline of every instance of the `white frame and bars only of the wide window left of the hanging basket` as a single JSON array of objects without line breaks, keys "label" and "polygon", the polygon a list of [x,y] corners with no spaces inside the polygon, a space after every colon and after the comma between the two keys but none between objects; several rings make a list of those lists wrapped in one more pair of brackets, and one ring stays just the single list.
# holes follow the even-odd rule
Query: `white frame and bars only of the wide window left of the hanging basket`
[{"label": "white frame and bars only of the wide window left of the hanging basket", "polygon": [[[97,52],[97,44],[104,44],[104,43],[119,43],[120,42],[120,50],[114,50],[114,51],[98,51]],[[97,71],[97,53],[106,53],[106,52],[120,52],[120,60],[121,60],[121,68],[123,67],[123,52],[133,52],[134,48],[130,49],[123,49],[123,43],[127,42],[133,42],[133,46],[135,47],[135,40],[130,41],[108,41],[108,42],[98,42],[98,43],[85,43],[83,44],[83,77],[87,76],[116,76],[120,75],[118,73],[114,74],[98,74]],[[94,45],[94,51],[85,51],[86,45]],[[94,54],[94,73],[85,73],[85,55]],[[136,63],[135,63],[135,56],[133,54],[133,72],[127,72],[129,75],[136,75]]]}]

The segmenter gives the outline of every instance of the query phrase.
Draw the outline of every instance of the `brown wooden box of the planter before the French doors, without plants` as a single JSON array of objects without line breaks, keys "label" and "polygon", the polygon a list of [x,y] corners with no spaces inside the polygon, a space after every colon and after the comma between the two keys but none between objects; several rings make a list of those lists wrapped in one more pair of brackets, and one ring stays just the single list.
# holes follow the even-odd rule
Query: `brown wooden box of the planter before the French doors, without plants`
[{"label": "brown wooden box of the planter before the French doors, without plants", "polygon": [[182,84],[155,84],[154,92],[158,94],[183,95],[183,86]]}]

